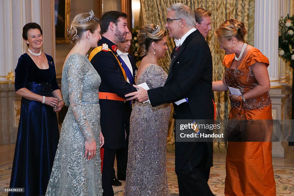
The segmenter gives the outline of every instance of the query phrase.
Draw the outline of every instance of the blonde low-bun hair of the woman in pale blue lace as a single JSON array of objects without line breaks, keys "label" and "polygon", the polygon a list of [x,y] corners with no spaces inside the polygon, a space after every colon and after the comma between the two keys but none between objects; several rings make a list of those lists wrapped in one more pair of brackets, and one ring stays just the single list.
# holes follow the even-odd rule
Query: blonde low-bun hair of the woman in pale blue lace
[{"label": "blonde low-bun hair of the woman in pale blue lace", "polygon": [[80,21],[86,19],[88,16],[90,16],[88,13],[81,13],[76,15],[74,20],[71,22],[71,25],[67,27],[66,36],[71,41],[71,43],[76,44],[85,31],[89,30],[91,33],[94,33],[98,28],[99,19],[95,17],[88,22],[79,24]]}]

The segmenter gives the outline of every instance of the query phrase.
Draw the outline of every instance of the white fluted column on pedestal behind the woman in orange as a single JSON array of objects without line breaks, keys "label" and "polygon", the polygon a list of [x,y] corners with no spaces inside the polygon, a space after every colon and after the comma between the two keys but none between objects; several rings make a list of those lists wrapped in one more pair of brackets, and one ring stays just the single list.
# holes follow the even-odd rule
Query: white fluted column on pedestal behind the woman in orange
[{"label": "white fluted column on pedestal behind the woman in orange", "polygon": [[[254,46],[268,57],[268,74],[271,89],[273,119],[288,119],[288,92],[279,82],[278,62],[278,20],[280,18],[280,0],[255,0]],[[288,150],[287,142],[273,142],[273,157],[284,157]]]}]

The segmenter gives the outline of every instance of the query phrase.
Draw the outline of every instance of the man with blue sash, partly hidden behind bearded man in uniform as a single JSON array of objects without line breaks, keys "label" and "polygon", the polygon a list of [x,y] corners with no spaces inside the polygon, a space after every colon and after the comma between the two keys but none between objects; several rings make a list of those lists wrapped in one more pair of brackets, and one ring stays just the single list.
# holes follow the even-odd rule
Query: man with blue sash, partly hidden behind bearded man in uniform
[{"label": "man with blue sash, partly hidden behind bearded man in uniform", "polygon": [[[127,82],[135,84],[135,73],[137,70],[136,61],[133,56],[128,53],[132,42],[132,34],[127,33],[126,41],[117,44],[117,54],[118,58],[123,64],[123,69],[127,75]],[[115,176],[115,171],[113,169],[112,174],[112,185],[120,186],[121,182],[118,180],[126,180],[126,169],[128,163],[128,138],[130,135],[130,116],[132,112],[131,101],[125,102],[125,130],[126,130],[126,148],[120,148],[116,150],[116,162],[117,162],[117,179]]]}]

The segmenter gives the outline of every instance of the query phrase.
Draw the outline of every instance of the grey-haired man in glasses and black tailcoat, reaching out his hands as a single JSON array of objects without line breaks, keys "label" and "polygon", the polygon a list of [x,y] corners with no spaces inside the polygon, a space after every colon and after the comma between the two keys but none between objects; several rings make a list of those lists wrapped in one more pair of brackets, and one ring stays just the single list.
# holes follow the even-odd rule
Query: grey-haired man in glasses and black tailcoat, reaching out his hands
[{"label": "grey-haired man in glasses and black tailcoat, reaching out his hands", "polygon": [[[213,119],[212,58],[210,48],[195,29],[194,12],[177,3],[168,7],[165,27],[170,38],[178,39],[173,49],[168,78],[163,87],[148,91],[135,86],[137,92],[126,96],[151,105],[173,103],[174,118]],[[192,122],[192,121],[191,121]],[[175,135],[180,130],[175,131]],[[175,142],[175,171],[179,194],[185,196],[213,196],[208,178],[212,166],[212,142]]]}]

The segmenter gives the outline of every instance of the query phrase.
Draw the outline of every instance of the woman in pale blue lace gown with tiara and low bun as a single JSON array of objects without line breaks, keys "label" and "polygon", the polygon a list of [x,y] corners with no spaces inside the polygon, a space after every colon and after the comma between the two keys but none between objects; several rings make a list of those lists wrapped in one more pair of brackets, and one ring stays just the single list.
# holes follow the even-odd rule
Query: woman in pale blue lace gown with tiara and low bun
[{"label": "woman in pale blue lace gown with tiara and low bun", "polygon": [[61,128],[46,195],[102,195],[98,88],[101,78],[86,58],[101,39],[93,12],[78,14],[67,37],[75,44],[62,72],[61,91],[69,106]]}]

